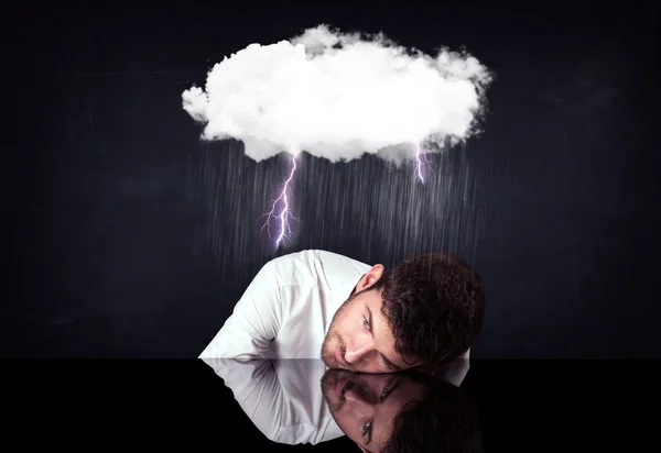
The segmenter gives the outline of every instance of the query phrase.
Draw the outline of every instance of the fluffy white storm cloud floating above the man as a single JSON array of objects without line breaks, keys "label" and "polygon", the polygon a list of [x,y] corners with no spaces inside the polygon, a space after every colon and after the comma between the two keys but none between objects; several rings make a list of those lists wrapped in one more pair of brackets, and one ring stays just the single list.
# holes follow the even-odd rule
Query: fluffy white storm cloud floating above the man
[{"label": "fluffy white storm cloud floating above the man", "polygon": [[250,44],[208,73],[183,107],[204,140],[243,141],[259,162],[305,151],[332,162],[364,153],[401,161],[415,143],[470,136],[492,77],[475,57],[432,57],[382,34],[326,25],[275,44]]}]

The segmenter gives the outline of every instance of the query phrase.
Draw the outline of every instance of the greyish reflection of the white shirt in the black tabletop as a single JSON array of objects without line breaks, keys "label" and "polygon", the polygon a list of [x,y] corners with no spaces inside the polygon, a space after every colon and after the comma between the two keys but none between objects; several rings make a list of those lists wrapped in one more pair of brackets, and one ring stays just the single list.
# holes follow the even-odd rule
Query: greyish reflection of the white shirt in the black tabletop
[{"label": "greyish reflection of the white shirt in the black tabletop", "polygon": [[254,426],[270,440],[316,444],[344,435],[322,393],[321,360],[205,358]]}]

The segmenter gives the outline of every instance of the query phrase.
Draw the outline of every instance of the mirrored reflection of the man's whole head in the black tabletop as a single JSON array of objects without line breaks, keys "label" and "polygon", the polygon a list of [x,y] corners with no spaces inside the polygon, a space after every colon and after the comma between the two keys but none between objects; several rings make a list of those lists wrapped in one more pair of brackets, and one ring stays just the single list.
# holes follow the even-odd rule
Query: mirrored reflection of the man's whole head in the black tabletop
[{"label": "mirrored reflection of the man's whole head in the black tabletop", "polygon": [[477,452],[481,432],[470,398],[422,373],[329,369],[324,397],[339,428],[364,452]]}]

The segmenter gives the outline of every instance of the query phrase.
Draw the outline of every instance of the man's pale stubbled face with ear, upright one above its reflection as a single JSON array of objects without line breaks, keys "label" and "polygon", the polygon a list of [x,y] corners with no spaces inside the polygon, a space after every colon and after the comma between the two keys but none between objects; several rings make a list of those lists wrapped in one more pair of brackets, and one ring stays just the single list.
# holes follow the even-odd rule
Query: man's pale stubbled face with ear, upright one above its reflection
[{"label": "man's pale stubbled face with ear, upright one above its reflection", "polygon": [[394,336],[381,314],[381,291],[369,290],[382,272],[378,264],[364,275],[356,294],[333,317],[322,345],[326,366],[361,373],[391,373],[412,366],[394,352]]}]

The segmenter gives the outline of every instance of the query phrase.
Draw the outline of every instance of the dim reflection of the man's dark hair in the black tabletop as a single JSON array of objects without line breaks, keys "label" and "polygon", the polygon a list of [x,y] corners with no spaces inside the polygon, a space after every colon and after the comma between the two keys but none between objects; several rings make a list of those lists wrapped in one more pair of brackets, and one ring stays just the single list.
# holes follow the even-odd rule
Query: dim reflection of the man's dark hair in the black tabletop
[{"label": "dim reflection of the man's dark hair in the black tabletop", "polygon": [[476,453],[481,430],[472,398],[446,380],[419,375],[421,399],[405,405],[392,421],[384,453]]}]

